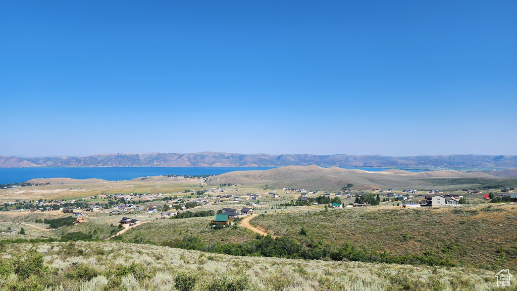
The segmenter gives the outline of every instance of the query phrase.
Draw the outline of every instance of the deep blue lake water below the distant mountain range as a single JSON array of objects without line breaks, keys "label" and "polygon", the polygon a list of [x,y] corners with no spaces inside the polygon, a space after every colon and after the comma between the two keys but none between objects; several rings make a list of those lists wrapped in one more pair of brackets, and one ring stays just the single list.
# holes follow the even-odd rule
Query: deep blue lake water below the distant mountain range
[{"label": "deep blue lake water below the distant mountain range", "polygon": [[[159,175],[218,175],[233,171],[268,170],[274,167],[22,167],[0,168],[0,184],[25,182],[36,178],[129,180]],[[384,171],[379,168],[346,168]],[[421,170],[405,170],[420,172]]]}]

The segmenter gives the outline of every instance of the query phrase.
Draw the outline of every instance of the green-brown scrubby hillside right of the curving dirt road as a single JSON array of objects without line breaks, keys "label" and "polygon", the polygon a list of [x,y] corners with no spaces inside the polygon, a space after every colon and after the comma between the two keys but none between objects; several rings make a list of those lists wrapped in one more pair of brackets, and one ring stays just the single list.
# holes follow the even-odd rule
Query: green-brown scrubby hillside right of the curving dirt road
[{"label": "green-brown scrubby hillside right of the curving dirt road", "polygon": [[[311,244],[352,242],[390,255],[432,251],[487,269],[517,267],[517,205],[383,209],[352,208],[258,216],[250,223]],[[301,235],[304,227],[307,235]]]}]

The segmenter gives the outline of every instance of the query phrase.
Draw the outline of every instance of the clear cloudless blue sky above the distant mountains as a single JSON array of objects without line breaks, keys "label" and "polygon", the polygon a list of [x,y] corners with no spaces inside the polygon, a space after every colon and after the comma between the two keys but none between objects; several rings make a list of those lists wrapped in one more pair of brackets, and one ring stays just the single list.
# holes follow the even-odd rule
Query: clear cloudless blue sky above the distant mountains
[{"label": "clear cloudless blue sky above the distant mountains", "polygon": [[517,155],[515,1],[3,1],[0,155]]}]

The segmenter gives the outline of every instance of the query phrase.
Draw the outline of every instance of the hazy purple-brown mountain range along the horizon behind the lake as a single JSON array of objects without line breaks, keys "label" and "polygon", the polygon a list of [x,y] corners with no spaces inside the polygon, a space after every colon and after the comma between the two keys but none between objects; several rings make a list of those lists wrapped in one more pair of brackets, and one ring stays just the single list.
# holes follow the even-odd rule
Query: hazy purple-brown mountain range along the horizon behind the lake
[{"label": "hazy purple-brown mountain range along the horizon behind the lake", "polygon": [[446,155],[387,157],[379,155],[268,155],[197,152],[193,154],[100,154],[87,157],[0,156],[0,167],[31,166],[286,166],[318,165],[341,167],[517,167],[517,156]]}]

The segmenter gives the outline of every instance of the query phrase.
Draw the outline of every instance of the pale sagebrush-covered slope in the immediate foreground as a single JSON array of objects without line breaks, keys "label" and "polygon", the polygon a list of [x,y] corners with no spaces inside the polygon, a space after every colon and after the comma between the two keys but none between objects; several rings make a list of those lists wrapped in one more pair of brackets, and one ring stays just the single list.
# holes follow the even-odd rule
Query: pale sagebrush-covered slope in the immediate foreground
[{"label": "pale sagebrush-covered slope in the immediate foreground", "polygon": [[[493,272],[235,257],[114,242],[0,244],[8,290],[492,290]],[[498,290],[510,290],[500,288]]]}]

